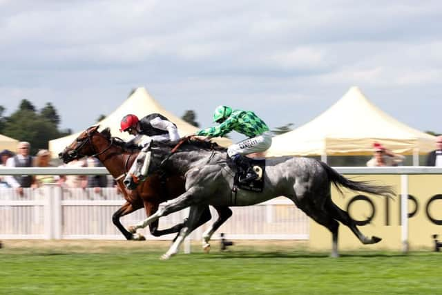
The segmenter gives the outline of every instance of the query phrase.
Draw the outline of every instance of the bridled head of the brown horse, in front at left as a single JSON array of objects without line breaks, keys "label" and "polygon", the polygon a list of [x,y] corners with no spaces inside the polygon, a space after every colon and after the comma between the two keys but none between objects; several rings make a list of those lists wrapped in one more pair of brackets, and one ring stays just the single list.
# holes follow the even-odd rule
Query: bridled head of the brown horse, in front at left
[{"label": "bridled head of the brown horse, in front at left", "polygon": [[[102,153],[102,145],[106,147],[111,142],[111,132],[107,128],[98,132],[98,127],[92,126],[83,131],[71,144],[66,146],[64,151],[58,154],[58,157],[64,163],[68,163],[86,156],[95,157]],[[95,140],[97,135],[104,140]]]}]

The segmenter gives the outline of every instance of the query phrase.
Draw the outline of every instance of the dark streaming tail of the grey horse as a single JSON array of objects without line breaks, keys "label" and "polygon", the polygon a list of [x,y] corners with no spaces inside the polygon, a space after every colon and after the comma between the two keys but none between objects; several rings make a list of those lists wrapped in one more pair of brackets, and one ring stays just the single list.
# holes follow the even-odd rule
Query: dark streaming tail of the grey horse
[{"label": "dark streaming tail of the grey horse", "polygon": [[[318,161],[320,162],[320,161]],[[354,191],[363,191],[365,193],[373,193],[375,195],[392,197],[396,195],[396,192],[390,185],[376,185],[372,184],[369,181],[354,181],[345,178],[343,175],[340,175],[338,171],[334,170],[329,165],[324,162],[320,162],[321,166],[323,166],[324,170],[327,172],[330,182],[333,182],[334,186],[340,193],[342,193],[339,185],[343,187],[347,187],[347,189],[352,189]]]}]

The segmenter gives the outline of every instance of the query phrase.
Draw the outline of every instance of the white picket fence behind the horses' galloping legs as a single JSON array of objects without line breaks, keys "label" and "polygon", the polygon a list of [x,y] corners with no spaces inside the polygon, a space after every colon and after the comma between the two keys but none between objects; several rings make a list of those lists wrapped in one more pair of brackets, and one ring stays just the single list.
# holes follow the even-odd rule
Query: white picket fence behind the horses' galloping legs
[{"label": "white picket fence behind the horses' galloping legs", "polygon": [[[73,174],[86,172],[77,169],[55,171],[57,174],[65,175],[73,171],[75,171]],[[23,172],[21,171],[20,175]],[[38,173],[41,174],[41,171]],[[102,189],[101,193],[95,193],[92,188],[66,189],[47,185],[38,189],[24,189],[23,196],[19,196],[15,189],[0,189],[0,238],[124,239],[112,223],[113,213],[124,202],[117,189],[111,187]],[[288,199],[277,198],[254,207],[231,209],[233,216],[218,229],[219,233],[223,232],[229,238],[253,240],[309,238],[307,216]],[[213,218],[210,222],[214,222],[218,214],[213,208],[211,214]],[[161,218],[160,229],[172,227],[186,217],[187,212],[180,211]],[[144,209],[140,209],[122,217],[121,221],[127,227],[135,225],[144,218],[146,213]],[[210,222],[198,228],[191,238],[200,239]],[[171,240],[175,237],[175,234],[170,234],[155,238],[149,234],[147,228],[139,232],[148,240]],[[215,235],[213,238],[217,239],[219,236]]]}]

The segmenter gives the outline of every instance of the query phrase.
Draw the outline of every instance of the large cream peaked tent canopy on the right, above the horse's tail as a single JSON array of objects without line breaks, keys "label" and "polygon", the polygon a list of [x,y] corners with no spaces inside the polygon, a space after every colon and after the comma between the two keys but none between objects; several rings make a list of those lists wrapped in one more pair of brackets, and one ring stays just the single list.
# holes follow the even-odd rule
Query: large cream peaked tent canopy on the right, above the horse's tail
[{"label": "large cream peaked tent canopy on the right, above the horse's tail", "polygon": [[394,153],[423,154],[435,140],[381,111],[355,86],[314,120],[273,137],[266,155],[371,155],[374,142]]}]

